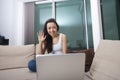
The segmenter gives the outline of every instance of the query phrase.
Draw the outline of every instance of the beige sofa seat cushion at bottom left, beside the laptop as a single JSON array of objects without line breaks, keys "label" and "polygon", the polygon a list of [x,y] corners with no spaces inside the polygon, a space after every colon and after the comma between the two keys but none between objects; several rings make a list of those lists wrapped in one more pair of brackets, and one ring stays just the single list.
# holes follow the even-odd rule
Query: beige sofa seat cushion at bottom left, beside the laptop
[{"label": "beige sofa seat cushion at bottom left, beside the laptop", "polygon": [[0,80],[36,80],[36,72],[28,68],[0,70]]}]

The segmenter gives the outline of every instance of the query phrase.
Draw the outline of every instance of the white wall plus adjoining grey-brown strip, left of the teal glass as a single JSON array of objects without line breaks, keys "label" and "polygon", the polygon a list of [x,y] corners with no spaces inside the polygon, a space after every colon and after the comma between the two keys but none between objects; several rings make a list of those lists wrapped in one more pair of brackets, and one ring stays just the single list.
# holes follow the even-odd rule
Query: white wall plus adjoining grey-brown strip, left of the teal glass
[{"label": "white wall plus adjoining grey-brown strip, left of the teal glass", "polygon": [[33,7],[22,0],[0,0],[0,35],[9,39],[9,45],[34,43]]}]

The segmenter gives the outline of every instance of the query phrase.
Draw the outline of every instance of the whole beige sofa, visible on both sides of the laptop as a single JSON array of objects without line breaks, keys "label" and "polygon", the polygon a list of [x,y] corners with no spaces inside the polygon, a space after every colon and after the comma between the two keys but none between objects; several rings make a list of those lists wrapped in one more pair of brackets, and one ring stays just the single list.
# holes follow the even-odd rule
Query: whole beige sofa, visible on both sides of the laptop
[{"label": "whole beige sofa, visible on both sides of the laptop", "polygon": [[[34,59],[33,44],[0,46],[0,80],[36,80],[36,72],[27,68]],[[120,80],[120,41],[101,40],[84,80]]]}]

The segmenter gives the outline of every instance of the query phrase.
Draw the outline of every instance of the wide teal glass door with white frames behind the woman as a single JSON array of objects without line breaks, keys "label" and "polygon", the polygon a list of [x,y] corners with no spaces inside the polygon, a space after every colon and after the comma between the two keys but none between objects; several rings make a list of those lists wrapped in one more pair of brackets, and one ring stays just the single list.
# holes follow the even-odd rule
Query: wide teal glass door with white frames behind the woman
[{"label": "wide teal glass door with white frames behind the woman", "polygon": [[[87,9],[85,9],[85,4]],[[68,49],[70,50],[87,49],[87,40],[88,47],[93,48],[92,24],[89,0],[86,0],[86,2],[84,2],[84,0],[61,0],[61,1],[56,0],[54,4],[53,2],[50,2],[48,8],[46,8],[46,6],[48,6],[48,3],[35,4],[35,6],[36,6],[35,9],[36,31],[41,30],[43,28],[45,20],[52,17],[53,16],[52,14],[54,12],[55,13],[54,18],[56,19],[60,26],[59,32],[67,35]],[[47,10],[49,9],[50,11],[45,12],[46,9]],[[85,16],[89,19],[86,19]],[[86,30],[86,27],[88,30]]]}]

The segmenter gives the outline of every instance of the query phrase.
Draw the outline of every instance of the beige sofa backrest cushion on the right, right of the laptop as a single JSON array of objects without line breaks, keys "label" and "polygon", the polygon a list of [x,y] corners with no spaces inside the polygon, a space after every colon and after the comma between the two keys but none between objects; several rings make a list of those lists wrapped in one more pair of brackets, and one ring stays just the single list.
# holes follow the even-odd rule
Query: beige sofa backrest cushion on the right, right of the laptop
[{"label": "beige sofa backrest cushion on the right, right of the laptop", "polygon": [[90,73],[93,80],[120,80],[120,41],[100,41]]}]

